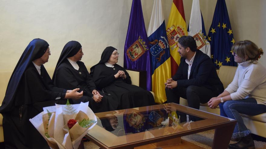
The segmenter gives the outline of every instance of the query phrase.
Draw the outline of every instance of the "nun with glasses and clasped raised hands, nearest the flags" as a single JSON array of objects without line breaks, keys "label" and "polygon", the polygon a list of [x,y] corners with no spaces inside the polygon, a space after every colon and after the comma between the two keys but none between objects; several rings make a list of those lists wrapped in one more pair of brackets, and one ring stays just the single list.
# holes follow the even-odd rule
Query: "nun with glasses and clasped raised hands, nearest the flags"
[{"label": "nun with glasses and clasped raised hands, nearest the flags", "polygon": [[116,64],[118,57],[117,49],[111,46],[102,52],[100,62],[90,69],[96,87],[116,98],[120,103],[119,109],[154,105],[151,92],[131,85],[129,74]]}]

